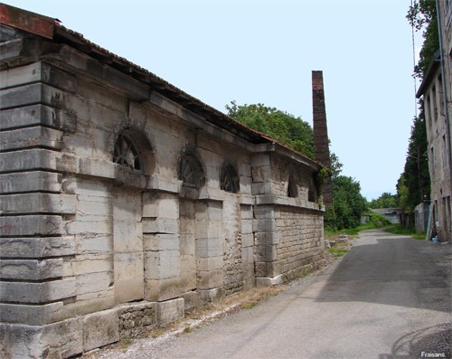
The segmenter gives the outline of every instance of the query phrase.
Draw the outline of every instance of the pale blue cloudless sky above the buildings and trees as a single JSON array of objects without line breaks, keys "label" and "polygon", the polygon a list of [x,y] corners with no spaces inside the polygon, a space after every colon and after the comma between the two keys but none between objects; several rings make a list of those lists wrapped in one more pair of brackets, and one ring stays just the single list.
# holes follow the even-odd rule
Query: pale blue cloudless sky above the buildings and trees
[{"label": "pale blue cloudless sky above the buildings and trees", "polygon": [[410,0],[3,2],[56,17],[223,112],[261,102],[312,123],[311,71],[324,71],[343,174],[368,200],[396,191],[415,116]]}]

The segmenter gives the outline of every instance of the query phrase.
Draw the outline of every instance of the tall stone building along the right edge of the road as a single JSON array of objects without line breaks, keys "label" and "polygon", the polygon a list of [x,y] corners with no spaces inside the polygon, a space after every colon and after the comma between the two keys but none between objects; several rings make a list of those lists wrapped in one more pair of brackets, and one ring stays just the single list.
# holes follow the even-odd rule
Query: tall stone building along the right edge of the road
[{"label": "tall stone building along the right edge of the road", "polygon": [[452,3],[438,1],[440,48],[426,71],[417,96],[424,100],[428,136],[431,223],[429,235],[452,241]]}]

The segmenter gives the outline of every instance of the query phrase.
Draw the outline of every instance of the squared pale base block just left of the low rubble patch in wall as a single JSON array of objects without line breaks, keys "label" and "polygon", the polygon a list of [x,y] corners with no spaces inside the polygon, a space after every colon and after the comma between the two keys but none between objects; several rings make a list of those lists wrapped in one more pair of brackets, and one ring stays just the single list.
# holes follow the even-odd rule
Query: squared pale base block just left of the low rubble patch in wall
[{"label": "squared pale base block just left of the low rubble patch in wall", "polygon": [[83,351],[118,342],[119,320],[115,309],[89,314],[82,319]]}]

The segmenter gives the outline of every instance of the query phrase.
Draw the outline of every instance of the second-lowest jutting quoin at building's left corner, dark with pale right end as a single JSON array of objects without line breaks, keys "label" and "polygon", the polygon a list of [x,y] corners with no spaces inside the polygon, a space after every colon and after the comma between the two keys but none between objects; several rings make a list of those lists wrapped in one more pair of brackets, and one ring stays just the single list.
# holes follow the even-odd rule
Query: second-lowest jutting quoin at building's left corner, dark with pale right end
[{"label": "second-lowest jutting quoin at building's left corner, dark with pale right end", "polygon": [[43,280],[63,275],[61,259],[0,260],[1,279]]}]

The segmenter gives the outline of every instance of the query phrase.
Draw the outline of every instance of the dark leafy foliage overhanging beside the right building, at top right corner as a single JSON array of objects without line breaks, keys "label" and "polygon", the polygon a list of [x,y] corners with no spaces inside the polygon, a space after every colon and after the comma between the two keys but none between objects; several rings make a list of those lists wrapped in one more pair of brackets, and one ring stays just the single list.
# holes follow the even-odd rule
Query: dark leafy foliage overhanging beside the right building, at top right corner
[{"label": "dark leafy foliage overhanging beside the right building, at top right corner", "polygon": [[407,19],[416,31],[422,31],[424,43],[419,52],[419,62],[414,67],[416,77],[425,75],[434,53],[439,48],[437,5],[435,0],[415,0]]}]

